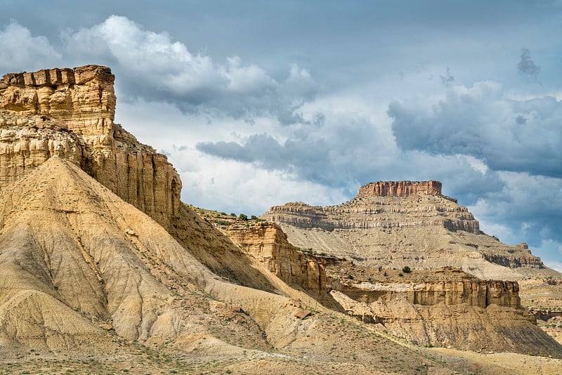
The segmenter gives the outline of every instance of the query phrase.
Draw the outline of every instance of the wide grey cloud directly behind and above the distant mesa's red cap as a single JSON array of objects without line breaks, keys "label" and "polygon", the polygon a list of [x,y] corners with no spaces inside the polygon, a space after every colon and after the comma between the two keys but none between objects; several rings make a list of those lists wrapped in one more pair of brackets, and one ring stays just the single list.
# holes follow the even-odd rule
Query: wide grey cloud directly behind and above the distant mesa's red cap
[{"label": "wide grey cloud directly behind and above the distant mesa's red cap", "polygon": [[198,143],[197,150],[269,171],[284,171],[297,180],[344,189],[349,195],[355,195],[359,185],[381,179],[445,180],[447,191],[464,199],[464,204],[503,188],[496,174],[483,175],[469,159],[415,150],[402,152],[391,133],[367,118],[356,114],[332,116],[336,115],[327,117],[324,126],[309,126],[306,134],[296,131],[284,141],[260,133],[241,143]]}]

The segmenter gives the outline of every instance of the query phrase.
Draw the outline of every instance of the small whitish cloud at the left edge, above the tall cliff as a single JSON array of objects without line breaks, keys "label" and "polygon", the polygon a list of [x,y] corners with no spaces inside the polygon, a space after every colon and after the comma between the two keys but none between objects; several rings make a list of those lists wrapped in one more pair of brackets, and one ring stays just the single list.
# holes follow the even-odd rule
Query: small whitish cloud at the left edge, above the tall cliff
[{"label": "small whitish cloud at the left edge, above the tall cliff", "polygon": [[0,46],[0,69],[5,72],[55,67],[62,57],[46,37],[32,36],[15,20],[0,30]]}]

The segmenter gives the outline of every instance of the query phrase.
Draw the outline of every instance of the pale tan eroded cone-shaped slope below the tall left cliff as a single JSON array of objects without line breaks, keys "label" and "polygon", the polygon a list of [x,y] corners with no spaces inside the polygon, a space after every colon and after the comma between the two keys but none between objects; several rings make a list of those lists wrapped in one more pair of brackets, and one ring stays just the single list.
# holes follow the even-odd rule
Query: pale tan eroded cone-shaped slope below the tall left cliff
[{"label": "pale tan eroded cone-shaped slope below the tall left cliff", "polygon": [[[305,306],[287,296],[213,275],[161,225],[59,157],[0,191],[0,274],[2,371],[8,351],[37,353],[34,370],[67,371],[73,350],[73,360],[86,353],[88,373],[117,372],[105,367],[115,361],[126,362],[119,372],[192,373],[209,362],[227,373],[303,374],[302,359],[306,371],[372,374],[384,348],[400,358],[392,371],[414,374],[421,364],[445,374],[366,327],[329,327],[335,313],[322,306],[299,320]],[[129,367],[131,357],[142,367]]]}]

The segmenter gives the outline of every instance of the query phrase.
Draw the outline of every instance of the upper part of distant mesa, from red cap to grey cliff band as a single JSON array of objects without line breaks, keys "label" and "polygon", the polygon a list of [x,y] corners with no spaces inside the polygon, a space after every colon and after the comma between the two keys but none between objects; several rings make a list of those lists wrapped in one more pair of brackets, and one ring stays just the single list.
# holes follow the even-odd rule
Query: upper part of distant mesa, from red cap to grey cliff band
[{"label": "upper part of distant mesa, from red cap to grey cliff band", "polygon": [[[360,187],[357,197],[344,204],[321,207],[292,202],[271,207],[261,218],[301,229],[329,231],[440,226],[447,230],[480,232],[478,221],[469,210],[440,195],[440,189],[438,181],[371,183]],[[425,196],[431,196],[426,198],[431,200],[419,204],[419,199]]]}]

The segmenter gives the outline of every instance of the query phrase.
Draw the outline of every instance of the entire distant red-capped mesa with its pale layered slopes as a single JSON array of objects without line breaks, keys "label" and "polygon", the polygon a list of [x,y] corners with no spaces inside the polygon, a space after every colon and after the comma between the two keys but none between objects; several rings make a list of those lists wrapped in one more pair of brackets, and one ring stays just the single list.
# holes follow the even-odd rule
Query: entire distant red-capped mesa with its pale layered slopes
[{"label": "entire distant red-capped mesa with its pale layered slopes", "polygon": [[361,265],[462,268],[483,279],[560,277],[524,244],[485,235],[478,221],[438,181],[379,182],[336,206],[273,206],[261,218],[280,225],[289,242]]}]

